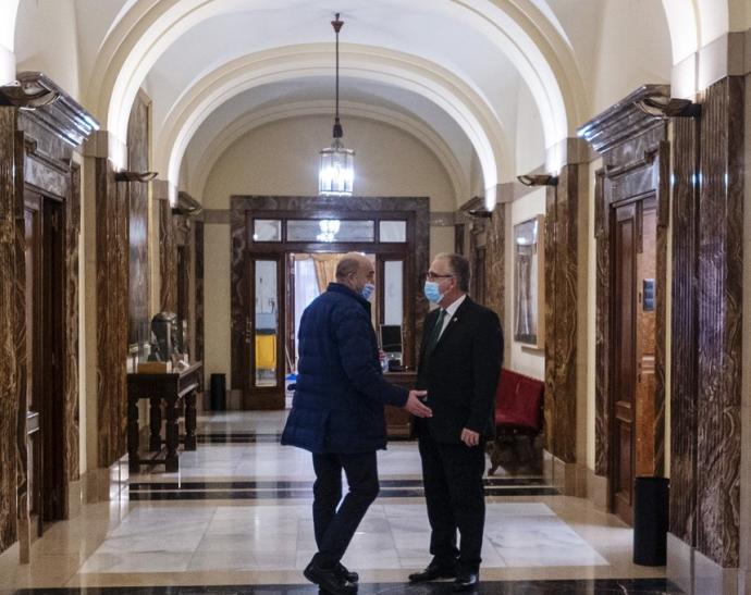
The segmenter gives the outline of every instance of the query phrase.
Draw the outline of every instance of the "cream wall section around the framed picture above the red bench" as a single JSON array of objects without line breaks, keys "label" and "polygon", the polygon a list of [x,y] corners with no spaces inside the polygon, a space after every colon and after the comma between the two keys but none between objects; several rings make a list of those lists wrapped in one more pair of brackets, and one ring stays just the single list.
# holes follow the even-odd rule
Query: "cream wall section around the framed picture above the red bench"
[{"label": "cream wall section around the framed picture above the red bench", "polygon": [[[541,187],[527,196],[515,200],[510,204],[510,230],[506,234],[506,329],[504,329],[504,339],[509,344],[507,354],[510,361],[506,367],[532,376],[544,380],[545,377],[545,351],[543,349],[530,349],[522,344],[514,340],[514,225],[528,219],[545,214],[545,188]],[[542,248],[542,244],[540,248]],[[544,288],[541,287],[542,290]]]}]

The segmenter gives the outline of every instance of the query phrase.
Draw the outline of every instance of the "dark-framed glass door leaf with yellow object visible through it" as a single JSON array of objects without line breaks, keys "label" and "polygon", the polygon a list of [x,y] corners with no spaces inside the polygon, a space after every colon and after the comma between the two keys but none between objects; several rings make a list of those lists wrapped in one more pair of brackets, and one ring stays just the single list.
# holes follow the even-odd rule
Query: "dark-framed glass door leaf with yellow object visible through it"
[{"label": "dark-framed glass door leaf with yellow object visible through it", "polygon": [[282,255],[248,258],[245,409],[284,407],[283,264]]}]

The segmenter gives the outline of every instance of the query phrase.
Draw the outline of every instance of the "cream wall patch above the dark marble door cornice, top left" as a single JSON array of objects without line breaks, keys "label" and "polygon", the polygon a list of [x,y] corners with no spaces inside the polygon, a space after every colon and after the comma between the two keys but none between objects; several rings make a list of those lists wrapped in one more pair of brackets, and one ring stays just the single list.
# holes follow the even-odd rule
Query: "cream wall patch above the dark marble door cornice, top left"
[{"label": "cream wall patch above the dark marble door cornice, top left", "polygon": [[40,71],[79,99],[77,26],[73,0],[19,4],[16,70]]}]

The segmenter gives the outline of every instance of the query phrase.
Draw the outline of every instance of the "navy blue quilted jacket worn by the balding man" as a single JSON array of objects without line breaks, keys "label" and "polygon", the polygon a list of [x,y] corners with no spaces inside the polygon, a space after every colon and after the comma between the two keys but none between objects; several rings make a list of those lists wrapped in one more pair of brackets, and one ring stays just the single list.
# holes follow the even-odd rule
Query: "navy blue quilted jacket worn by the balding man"
[{"label": "navy blue quilted jacket worn by the balding man", "polygon": [[303,312],[299,365],[282,444],[311,453],[370,453],[386,446],[384,404],[407,392],[383,380],[370,302],[331,283]]}]

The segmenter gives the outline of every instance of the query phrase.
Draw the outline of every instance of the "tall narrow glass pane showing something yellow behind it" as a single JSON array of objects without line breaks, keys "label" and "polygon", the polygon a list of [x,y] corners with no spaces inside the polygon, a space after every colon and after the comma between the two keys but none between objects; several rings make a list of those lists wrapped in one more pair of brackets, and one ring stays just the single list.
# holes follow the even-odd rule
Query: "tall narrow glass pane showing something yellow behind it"
[{"label": "tall narrow glass pane showing something yellow behind it", "polygon": [[256,261],[256,386],[276,386],[276,261]]}]

